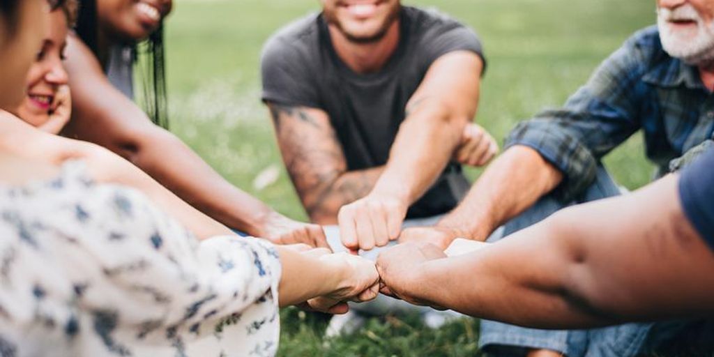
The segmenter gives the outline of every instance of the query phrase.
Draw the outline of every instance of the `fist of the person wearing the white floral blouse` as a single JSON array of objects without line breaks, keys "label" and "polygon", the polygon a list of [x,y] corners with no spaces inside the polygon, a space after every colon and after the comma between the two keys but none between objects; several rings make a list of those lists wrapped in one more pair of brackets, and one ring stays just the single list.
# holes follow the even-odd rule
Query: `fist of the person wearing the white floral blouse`
[{"label": "fist of the person wearing the white floral blouse", "polygon": [[316,311],[346,313],[346,301],[371,301],[379,293],[379,274],[375,263],[347,253],[326,254],[324,250],[309,251],[306,254],[319,257],[330,271],[341,273],[342,278],[330,293],[313,298],[307,305]]}]

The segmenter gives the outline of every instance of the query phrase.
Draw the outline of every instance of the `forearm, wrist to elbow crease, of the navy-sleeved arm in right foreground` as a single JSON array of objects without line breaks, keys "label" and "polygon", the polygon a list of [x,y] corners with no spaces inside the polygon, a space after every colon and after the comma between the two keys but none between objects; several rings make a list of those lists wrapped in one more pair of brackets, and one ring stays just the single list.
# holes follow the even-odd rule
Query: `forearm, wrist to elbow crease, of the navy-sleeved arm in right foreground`
[{"label": "forearm, wrist to elbow crease, of the navy-sleeved arm in right foreground", "polygon": [[[569,256],[535,226],[481,251],[424,263],[412,279],[413,298],[467,315],[537,328],[600,326],[586,304],[568,296]],[[533,253],[537,251],[538,253]]]}]

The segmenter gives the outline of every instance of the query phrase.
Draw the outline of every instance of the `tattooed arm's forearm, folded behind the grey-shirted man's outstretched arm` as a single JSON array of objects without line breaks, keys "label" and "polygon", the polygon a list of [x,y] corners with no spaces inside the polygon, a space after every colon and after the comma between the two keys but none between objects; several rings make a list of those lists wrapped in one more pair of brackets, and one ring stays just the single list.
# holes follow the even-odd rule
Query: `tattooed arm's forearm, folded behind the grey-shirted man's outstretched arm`
[{"label": "tattooed arm's forearm, folded behind the grey-shirted man's outstretched arm", "polygon": [[349,171],[323,183],[318,190],[301,195],[311,221],[322,225],[337,224],[340,208],[367,196],[383,171],[384,166]]}]

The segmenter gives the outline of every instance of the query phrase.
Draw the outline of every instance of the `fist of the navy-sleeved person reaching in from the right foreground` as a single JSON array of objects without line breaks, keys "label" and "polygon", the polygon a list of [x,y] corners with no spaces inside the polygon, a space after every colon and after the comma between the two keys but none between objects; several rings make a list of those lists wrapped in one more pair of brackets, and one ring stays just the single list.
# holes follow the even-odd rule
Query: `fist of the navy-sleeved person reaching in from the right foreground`
[{"label": "fist of the navy-sleeved person reaching in from the right foreground", "polygon": [[381,277],[381,293],[400,298],[413,305],[433,306],[418,298],[422,284],[421,266],[428,261],[446,258],[443,251],[433,244],[404,243],[384,251],[377,258],[377,271]]}]

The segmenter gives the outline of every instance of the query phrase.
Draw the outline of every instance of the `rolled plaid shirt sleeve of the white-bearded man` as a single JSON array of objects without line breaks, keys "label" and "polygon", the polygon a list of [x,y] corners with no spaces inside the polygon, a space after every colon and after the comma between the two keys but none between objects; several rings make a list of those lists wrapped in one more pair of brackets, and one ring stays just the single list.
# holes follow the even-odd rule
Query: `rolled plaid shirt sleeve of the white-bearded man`
[{"label": "rolled plaid shirt sleeve of the white-bearded man", "polygon": [[563,173],[553,193],[572,201],[595,180],[600,160],[640,129],[640,106],[651,91],[641,80],[647,60],[638,36],[600,64],[563,108],[518,124],[506,148],[528,146]]}]

